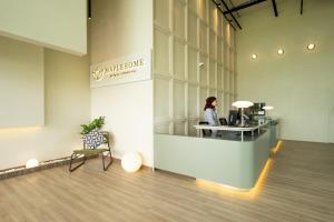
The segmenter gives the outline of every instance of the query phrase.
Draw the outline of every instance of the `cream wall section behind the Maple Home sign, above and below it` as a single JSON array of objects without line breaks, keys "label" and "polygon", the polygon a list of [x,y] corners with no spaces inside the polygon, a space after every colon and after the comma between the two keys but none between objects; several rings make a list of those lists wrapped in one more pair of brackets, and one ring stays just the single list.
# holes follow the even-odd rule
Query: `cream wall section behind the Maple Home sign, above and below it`
[{"label": "cream wall section behind the Maple Home sign, above and below it", "polygon": [[[92,1],[90,64],[153,48],[153,0]],[[91,89],[92,118],[106,117],[116,158],[138,151],[153,165],[153,81]]]}]

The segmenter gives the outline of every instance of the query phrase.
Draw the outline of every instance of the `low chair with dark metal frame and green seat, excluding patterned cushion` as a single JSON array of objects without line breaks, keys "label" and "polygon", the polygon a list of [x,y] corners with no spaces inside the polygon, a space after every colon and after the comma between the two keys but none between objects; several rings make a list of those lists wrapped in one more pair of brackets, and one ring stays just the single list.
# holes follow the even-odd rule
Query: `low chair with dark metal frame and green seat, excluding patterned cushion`
[{"label": "low chair with dark metal frame and green seat, excluding patterned cushion", "polygon": [[[71,160],[70,160],[70,164],[69,164],[69,171],[70,172],[73,172],[75,170],[77,170],[78,168],[84,165],[86,160],[87,160],[87,157],[96,155],[96,154],[101,154],[102,155],[104,171],[108,170],[108,168],[112,163],[109,133],[106,132],[106,131],[101,131],[100,133],[107,139],[107,142],[105,142],[105,144],[108,144],[108,148],[107,149],[91,149],[84,142],[84,149],[82,150],[75,150],[73,153],[71,154]],[[104,152],[108,152],[106,157],[108,157],[108,155],[110,157],[110,161],[109,161],[108,164],[106,164],[106,157],[104,155]],[[80,157],[82,157],[84,160],[78,165],[72,168],[73,161],[76,161]]]}]

